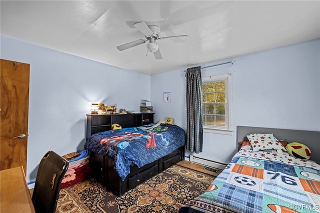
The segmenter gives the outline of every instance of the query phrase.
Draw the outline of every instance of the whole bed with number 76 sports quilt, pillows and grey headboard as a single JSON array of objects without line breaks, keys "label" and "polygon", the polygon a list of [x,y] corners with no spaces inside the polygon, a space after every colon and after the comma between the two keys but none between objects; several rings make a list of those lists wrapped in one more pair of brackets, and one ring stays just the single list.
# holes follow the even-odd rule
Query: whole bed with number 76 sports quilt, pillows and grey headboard
[{"label": "whole bed with number 76 sports quilt, pillows and grey headboard", "polygon": [[237,142],[230,163],[179,213],[320,212],[319,131],[237,126]]}]

